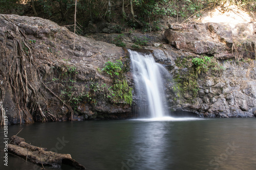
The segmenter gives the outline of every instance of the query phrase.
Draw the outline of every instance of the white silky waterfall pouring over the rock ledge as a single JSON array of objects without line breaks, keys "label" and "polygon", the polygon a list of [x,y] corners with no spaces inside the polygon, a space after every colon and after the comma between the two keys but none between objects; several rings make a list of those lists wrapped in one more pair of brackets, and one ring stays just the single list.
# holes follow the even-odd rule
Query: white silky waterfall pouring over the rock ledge
[{"label": "white silky waterfall pouring over the rock ledge", "polygon": [[[159,118],[166,116],[167,106],[163,86],[163,73],[168,71],[156,63],[151,53],[144,54],[128,49],[130,54],[135,93],[134,109],[140,117]],[[150,116],[148,116],[148,113]]]}]

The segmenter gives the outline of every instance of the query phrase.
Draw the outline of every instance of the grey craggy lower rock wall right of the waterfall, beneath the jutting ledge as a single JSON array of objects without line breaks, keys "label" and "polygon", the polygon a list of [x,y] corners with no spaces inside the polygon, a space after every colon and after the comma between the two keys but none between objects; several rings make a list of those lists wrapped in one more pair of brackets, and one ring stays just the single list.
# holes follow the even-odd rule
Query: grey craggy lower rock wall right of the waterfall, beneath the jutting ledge
[{"label": "grey craggy lower rock wall right of the waterfall, beneath the jutting ledge", "polygon": [[[171,46],[166,46],[166,49],[148,48],[153,50],[155,60],[163,63],[173,77],[189,74],[188,69],[193,67],[178,67],[176,64],[181,64],[181,59],[189,61],[191,58],[200,57],[194,53],[177,51]],[[169,110],[175,115],[185,111],[194,112],[201,117],[255,117],[255,59],[239,63],[236,60],[221,60],[219,65],[223,68],[221,74],[211,75],[209,72],[202,72],[198,76],[195,86],[198,91],[195,96],[189,92],[178,95],[179,90],[174,89],[175,80],[166,81]],[[182,87],[181,84],[180,88]]]}]

